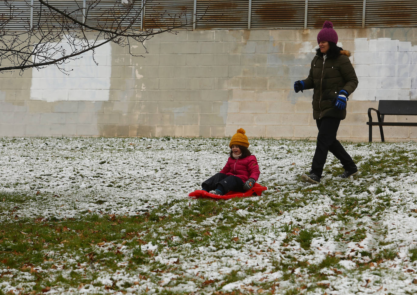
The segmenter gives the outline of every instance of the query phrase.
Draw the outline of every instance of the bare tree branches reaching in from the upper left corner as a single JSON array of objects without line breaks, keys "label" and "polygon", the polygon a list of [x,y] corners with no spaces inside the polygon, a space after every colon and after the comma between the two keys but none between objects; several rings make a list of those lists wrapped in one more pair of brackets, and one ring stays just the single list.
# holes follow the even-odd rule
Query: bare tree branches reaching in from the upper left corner
[{"label": "bare tree branches reaching in from the upper left corner", "polygon": [[[157,0],[144,0],[146,22],[152,28],[142,28],[143,7],[141,0],[132,0],[129,7],[114,1],[113,7],[105,7],[103,1],[71,0],[68,4],[55,4],[51,0],[19,1],[3,0],[0,4],[0,72],[29,68],[43,68],[55,65],[66,72],[63,64],[80,58],[85,52],[92,52],[108,42],[128,46],[132,42],[144,42],[163,32],[177,33],[176,29],[188,29],[193,24],[192,7],[178,13],[167,13]],[[24,3],[25,5],[22,5]],[[108,2],[106,2],[108,3]],[[33,10],[33,18],[28,15]],[[205,13],[196,16],[196,22],[205,20]],[[18,26],[19,30],[11,28]],[[64,46],[65,45],[65,46]],[[147,52],[147,50],[145,51]],[[141,55],[137,55],[141,56]]]}]

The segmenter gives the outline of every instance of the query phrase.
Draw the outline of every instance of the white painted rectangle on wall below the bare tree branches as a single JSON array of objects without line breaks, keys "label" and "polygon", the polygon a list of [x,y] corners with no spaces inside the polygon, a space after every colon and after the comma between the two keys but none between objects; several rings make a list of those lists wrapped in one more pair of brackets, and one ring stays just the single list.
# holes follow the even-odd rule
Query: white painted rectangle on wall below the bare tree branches
[{"label": "white painted rectangle on wall below the bare tree branches", "polygon": [[[62,46],[67,49],[68,43]],[[69,50],[69,48],[68,48]],[[62,100],[109,100],[111,78],[111,45],[106,43],[92,52],[80,55],[82,58],[63,65],[71,70],[65,75],[55,66],[32,71],[30,99],[45,101]]]}]

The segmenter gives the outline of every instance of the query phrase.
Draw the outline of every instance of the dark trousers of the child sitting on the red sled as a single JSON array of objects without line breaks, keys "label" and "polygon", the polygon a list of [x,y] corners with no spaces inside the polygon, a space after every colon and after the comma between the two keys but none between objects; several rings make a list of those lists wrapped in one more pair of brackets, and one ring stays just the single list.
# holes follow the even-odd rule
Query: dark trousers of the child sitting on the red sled
[{"label": "dark trousers of the child sitting on the red sled", "polygon": [[220,190],[223,194],[229,193],[231,190],[244,192],[243,180],[234,175],[226,175],[224,173],[216,173],[201,184],[203,190]]}]

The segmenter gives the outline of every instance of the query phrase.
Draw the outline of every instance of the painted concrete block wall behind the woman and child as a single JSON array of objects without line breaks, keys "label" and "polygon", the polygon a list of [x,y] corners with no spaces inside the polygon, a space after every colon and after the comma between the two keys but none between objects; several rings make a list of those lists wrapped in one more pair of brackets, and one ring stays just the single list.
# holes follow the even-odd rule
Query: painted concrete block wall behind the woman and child
[{"label": "painted concrete block wall behind the woman and child", "polygon": [[[417,28],[335,29],[359,79],[338,136],[367,141],[369,107],[417,99]],[[293,84],[308,75],[318,32],[179,30],[148,40],[148,53],[133,44],[143,57],[106,45],[99,65],[84,55],[66,65],[68,75],[55,67],[1,73],[0,136],[229,136],[245,128],[254,137],[314,139],[312,90],[295,93]],[[417,139],[417,127],[384,133]]]}]

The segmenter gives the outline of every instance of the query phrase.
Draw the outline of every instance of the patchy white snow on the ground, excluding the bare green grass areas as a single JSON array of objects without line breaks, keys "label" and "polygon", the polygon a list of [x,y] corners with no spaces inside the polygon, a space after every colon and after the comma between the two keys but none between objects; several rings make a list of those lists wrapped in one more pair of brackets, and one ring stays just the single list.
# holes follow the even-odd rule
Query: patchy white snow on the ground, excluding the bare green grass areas
[{"label": "patchy white snow on the ground, excluding the bare green grass areas", "polygon": [[[188,199],[189,192],[199,189],[203,180],[223,168],[229,153],[227,139],[207,138],[4,138],[2,143],[2,190],[10,194],[26,195],[27,200],[24,203],[6,204],[5,210],[0,213],[0,222],[25,217],[70,218],[88,212],[137,215],[161,206],[166,208],[167,213],[181,213],[182,208],[174,201]],[[190,278],[202,276],[204,280],[224,280],[224,274],[232,270],[259,270],[253,275],[224,285],[222,289],[224,292],[238,289],[242,292],[256,292],[259,289],[252,282],[279,281],[282,278],[282,271],[274,268],[274,260],[283,261],[288,257],[279,253],[287,251],[287,255],[308,264],[320,263],[326,255],[331,254],[343,258],[339,265],[349,271],[341,275],[332,269],[321,270],[327,274],[327,279],[320,282],[326,288],[309,294],[323,294],[324,291],[334,295],[417,293],[417,285],[413,283],[417,279],[414,273],[417,265],[407,258],[409,248],[417,245],[417,218],[414,214],[417,208],[415,171],[400,171],[398,175],[387,176],[384,171],[369,175],[362,170],[354,179],[340,182],[334,195],[323,195],[316,185],[299,182],[301,173],[308,171],[311,165],[315,149],[313,142],[259,139],[250,140],[250,143],[249,149],[256,155],[261,169],[258,182],[266,185],[269,192],[276,192],[269,198],[276,198],[279,203],[282,198],[280,191],[290,192],[296,188],[310,187],[311,199],[302,207],[269,216],[257,216],[248,210],[239,211],[240,216],[254,221],[239,225],[231,233],[243,240],[238,249],[222,249],[219,246],[221,243],[213,243],[207,248],[193,248],[193,245],[186,243],[181,245],[183,256],[173,258],[169,248],[147,243],[142,246],[142,250],[154,250],[156,255],[153,261],[169,265],[178,259],[183,271],[181,275]],[[378,161],[382,156],[389,157],[395,149],[409,151],[409,161],[415,167],[416,157],[413,152],[417,149],[417,143],[345,146],[352,157],[361,158],[357,163],[359,169],[369,160]],[[340,170],[342,166],[329,155],[327,167]],[[333,179],[331,173],[327,172],[323,182]],[[291,197],[297,198],[296,194]],[[389,195],[388,203],[381,203],[379,197],[383,195]],[[334,196],[340,199],[357,198],[362,202],[364,212],[379,205],[386,208],[378,213],[379,221],[375,221],[372,215],[363,215],[361,220],[352,220],[352,227],[363,225],[366,238],[359,243],[341,244],[335,239],[342,231],[338,222],[329,222],[324,228],[315,228],[311,224],[314,218],[330,214],[334,208],[341,206],[331,198]],[[270,201],[261,197],[252,197],[250,200],[257,200],[259,208]],[[216,224],[222,218],[217,215],[207,219],[205,223]],[[287,234],[282,226],[290,222],[306,229],[325,232],[311,241],[314,253],[302,249],[296,240],[283,245],[282,241]],[[381,232],[384,234],[381,235]],[[398,258],[385,264],[380,263],[377,272],[374,267],[370,267],[367,271],[357,273],[357,263],[367,263],[370,260],[361,253],[378,248],[381,237],[389,245],[386,249],[398,249]],[[377,251],[383,250],[378,248]],[[188,262],[187,256],[192,257],[193,262]],[[146,268],[149,266],[144,265],[143,271]],[[408,271],[410,269],[413,271]],[[294,270],[294,273],[299,277],[299,282],[280,281],[281,290],[290,290],[292,286],[295,288],[304,280],[308,281],[308,274],[303,269]],[[158,284],[143,280],[141,284],[127,290],[128,293],[146,290],[152,293],[156,288],[169,286],[171,280],[178,277],[172,273],[160,275],[162,277]],[[103,272],[96,280],[106,285],[116,279],[122,283],[133,283],[137,280],[124,273],[124,270],[118,273]],[[80,290],[55,290],[55,293],[104,292],[90,286],[88,290],[84,286]],[[9,290],[14,288],[9,287]],[[201,291],[200,288],[193,281],[188,281],[170,287],[169,290],[174,293],[191,293]],[[276,294],[280,294],[279,289],[276,289]]]}]

